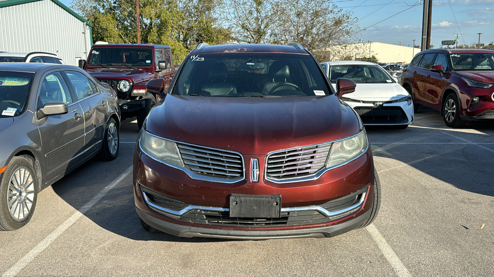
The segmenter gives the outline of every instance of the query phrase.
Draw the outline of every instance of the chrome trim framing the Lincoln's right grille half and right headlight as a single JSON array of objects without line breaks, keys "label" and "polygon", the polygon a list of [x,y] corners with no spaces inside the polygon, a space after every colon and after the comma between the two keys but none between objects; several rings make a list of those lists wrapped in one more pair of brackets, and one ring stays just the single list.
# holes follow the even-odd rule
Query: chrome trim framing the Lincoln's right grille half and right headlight
[{"label": "chrome trim framing the Lincoln's right grille half and right headlight", "polygon": [[[317,146],[317,145],[321,145],[321,144],[326,144],[326,143],[331,143],[331,146],[332,146],[332,143],[334,142],[338,142],[338,141],[342,141],[342,140],[345,140],[345,139],[349,139],[349,138],[353,138],[353,137],[357,137],[358,135],[362,134],[363,132],[365,132],[366,130],[362,130],[361,132],[353,135],[353,136],[350,136],[350,137],[346,137],[346,138],[340,138],[340,139],[336,139],[336,140],[332,140],[332,141],[328,141],[328,142],[324,142],[324,143],[319,143],[319,144],[313,144],[314,146]],[[269,152],[267,155],[266,155],[266,162],[265,162],[265,165],[264,165],[264,175],[266,176],[266,180],[270,181],[270,182],[273,182],[273,183],[276,183],[276,184],[285,184],[285,183],[296,183],[296,182],[305,182],[305,181],[312,181],[312,180],[317,180],[319,179],[324,173],[327,173],[328,171],[332,170],[332,169],[335,169],[335,168],[338,168],[338,167],[341,167],[341,166],[344,166],[346,164],[349,164],[355,160],[357,160],[358,158],[362,157],[365,153],[367,153],[367,151],[369,150],[369,138],[367,137],[367,133],[366,133],[366,140],[367,140],[367,147],[366,149],[360,154],[358,155],[357,157],[351,159],[351,160],[348,160],[344,163],[341,163],[339,165],[335,165],[333,167],[330,167],[330,168],[322,168],[320,169],[318,172],[314,173],[313,175],[309,175],[309,176],[303,176],[303,177],[298,177],[298,178],[291,178],[291,179],[285,179],[285,180],[277,180],[277,179],[274,179],[274,178],[271,178],[267,175],[267,165],[268,165],[268,157],[270,154],[272,153],[276,153],[276,152],[280,152],[280,151],[289,151],[289,150],[292,150],[292,149],[297,149],[297,148],[303,148],[303,147],[308,147],[308,146],[312,146],[312,145],[305,145],[305,146],[299,146],[299,147],[293,147],[293,148],[289,148],[289,149],[284,149],[284,150],[276,150],[276,151],[271,151]],[[331,153],[328,154],[328,157],[331,155]]]}]

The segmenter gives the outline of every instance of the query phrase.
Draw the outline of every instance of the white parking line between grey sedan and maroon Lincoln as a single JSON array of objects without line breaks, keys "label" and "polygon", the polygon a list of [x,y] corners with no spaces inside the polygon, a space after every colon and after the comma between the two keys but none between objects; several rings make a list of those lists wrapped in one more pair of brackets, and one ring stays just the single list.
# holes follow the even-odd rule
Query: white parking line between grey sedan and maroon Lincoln
[{"label": "white parking line between grey sedan and maroon Lincoln", "polygon": [[82,208],[74,212],[64,223],[57,227],[51,234],[46,236],[38,245],[29,251],[24,257],[20,258],[11,268],[9,268],[1,277],[16,276],[24,267],[26,267],[41,251],[43,251],[51,242],[55,241],[67,228],[74,224],[88,209],[94,206],[103,196],[105,196],[113,187],[120,183],[130,172],[132,166],[128,167],[124,173],[120,174],[109,185],[102,189],[96,196],[89,200]]}]

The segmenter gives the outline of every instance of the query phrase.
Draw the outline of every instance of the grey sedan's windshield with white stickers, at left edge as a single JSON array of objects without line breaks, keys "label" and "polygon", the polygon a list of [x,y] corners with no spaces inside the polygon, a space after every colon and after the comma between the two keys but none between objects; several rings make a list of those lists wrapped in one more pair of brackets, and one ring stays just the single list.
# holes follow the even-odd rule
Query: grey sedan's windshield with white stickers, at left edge
[{"label": "grey sedan's windshield with white stickers, at left edge", "polygon": [[0,118],[24,112],[33,77],[30,72],[0,71]]}]

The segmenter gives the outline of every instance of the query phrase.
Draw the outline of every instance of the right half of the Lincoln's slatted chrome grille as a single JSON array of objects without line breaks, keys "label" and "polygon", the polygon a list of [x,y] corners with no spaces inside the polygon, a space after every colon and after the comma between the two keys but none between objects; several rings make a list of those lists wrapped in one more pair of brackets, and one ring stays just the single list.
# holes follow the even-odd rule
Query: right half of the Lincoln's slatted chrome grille
[{"label": "right half of the Lincoln's slatted chrome grille", "polygon": [[286,180],[310,176],[324,167],[331,143],[273,152],[268,155],[266,176]]}]

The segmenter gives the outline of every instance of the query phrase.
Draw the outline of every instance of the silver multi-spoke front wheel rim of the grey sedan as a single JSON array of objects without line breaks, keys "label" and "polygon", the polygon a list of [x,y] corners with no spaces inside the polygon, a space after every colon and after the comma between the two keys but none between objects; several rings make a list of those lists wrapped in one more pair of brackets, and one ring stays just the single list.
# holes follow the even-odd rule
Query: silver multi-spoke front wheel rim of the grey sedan
[{"label": "silver multi-spoke front wheel rim of the grey sedan", "polygon": [[23,220],[31,212],[34,201],[34,181],[29,169],[18,168],[10,177],[7,207],[15,220]]}]

